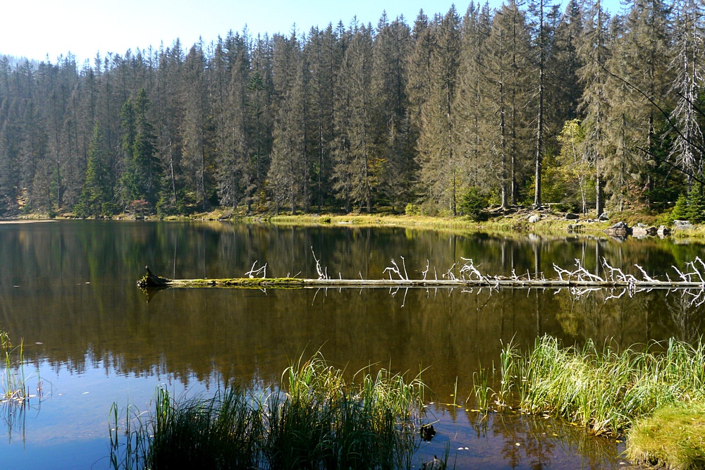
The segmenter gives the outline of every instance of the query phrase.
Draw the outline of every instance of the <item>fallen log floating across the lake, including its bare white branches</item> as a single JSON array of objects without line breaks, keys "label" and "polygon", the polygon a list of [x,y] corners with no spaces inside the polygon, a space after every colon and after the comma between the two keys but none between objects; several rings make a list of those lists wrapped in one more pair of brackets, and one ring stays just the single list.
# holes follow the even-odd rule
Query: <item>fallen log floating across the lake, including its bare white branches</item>
[{"label": "fallen log floating across the lake, including its bare white branches", "polygon": [[[403,259],[403,258],[402,258]],[[625,274],[618,268],[613,268],[603,259],[603,277],[590,273],[580,265],[580,261],[576,260],[577,269],[568,271],[554,265],[553,268],[558,273],[557,279],[546,279],[543,276],[531,278],[527,273],[526,277],[519,276],[485,276],[477,271],[477,268],[472,264],[472,259],[464,259],[465,264],[460,267],[455,267],[443,274],[441,279],[428,279],[426,271],[423,271],[424,278],[410,279],[407,276],[406,268],[399,268],[396,261],[392,260],[392,265],[386,268],[384,272],[389,273],[388,279],[343,279],[329,278],[324,270],[319,266],[317,261],[317,271],[319,278],[266,278],[255,277],[252,273],[261,272],[250,271],[247,273],[247,278],[224,278],[224,279],[168,279],[161,276],[156,276],[146,267],[147,273],[142,279],[137,281],[137,285],[142,288],[149,287],[288,287],[288,288],[304,288],[304,287],[490,287],[490,288],[551,288],[563,289],[570,288],[573,290],[590,290],[601,288],[617,288],[625,289],[627,292],[633,293],[637,290],[649,289],[698,289],[705,290],[705,280],[702,278],[700,271],[695,266],[695,261],[688,263],[692,271],[682,273],[678,268],[674,269],[678,273],[680,280],[656,280],[648,276],[644,270],[638,266],[642,272],[642,278],[636,278],[631,274]],[[696,258],[703,270],[705,264]],[[256,263],[255,263],[256,264]],[[254,265],[253,265],[254,270]],[[266,272],[266,271],[265,271]],[[391,274],[396,273],[398,279],[392,278]]]}]

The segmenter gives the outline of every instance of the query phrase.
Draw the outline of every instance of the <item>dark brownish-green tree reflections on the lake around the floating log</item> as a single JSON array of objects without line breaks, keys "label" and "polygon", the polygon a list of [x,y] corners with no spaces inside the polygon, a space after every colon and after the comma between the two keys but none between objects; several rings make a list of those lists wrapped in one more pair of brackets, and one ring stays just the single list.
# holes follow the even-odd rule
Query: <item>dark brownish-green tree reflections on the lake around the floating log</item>
[{"label": "dark brownish-green tree reflections on the lake around the floating log", "polygon": [[[664,240],[490,236],[402,228],[277,228],[233,223],[75,221],[0,228],[0,325],[73,370],[86,361],[125,373],[185,378],[238,376],[274,381],[308,347],[350,369],[380,361],[397,370],[431,366],[428,381],[448,392],[471,388],[478,364],[497,361],[501,342],[537,335],[620,344],[697,338],[702,307],[678,292],[606,300],[563,290],[243,291],[167,290],[152,302],[134,286],[145,264],[179,278],[242,275],[252,262],[271,276],[315,277],[314,247],[331,276],[381,278],[393,256],[410,277],[427,259],[439,272],[460,257],[484,273],[553,273],[580,259],[662,273],[701,255],[701,245]],[[14,286],[19,287],[14,287]],[[34,345],[35,341],[44,345]],[[257,372],[255,372],[257,371]]]}]

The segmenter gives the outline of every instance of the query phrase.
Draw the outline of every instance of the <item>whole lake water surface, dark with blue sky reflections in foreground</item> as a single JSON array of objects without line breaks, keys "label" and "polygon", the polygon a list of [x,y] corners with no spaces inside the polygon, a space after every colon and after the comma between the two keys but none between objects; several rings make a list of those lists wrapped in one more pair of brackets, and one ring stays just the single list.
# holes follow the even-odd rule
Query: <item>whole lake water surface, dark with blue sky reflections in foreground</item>
[{"label": "whole lake water surface, dark with blue sky reflections in foreground", "polygon": [[[620,468],[622,444],[527,416],[477,416],[472,373],[498,361],[502,342],[529,347],[615,338],[622,345],[704,330],[705,307],[683,292],[607,299],[565,290],[171,289],[150,297],[135,287],[145,264],[173,278],[266,274],[317,277],[312,248],[331,277],[381,278],[401,256],[411,278],[448,271],[461,257],[484,273],[544,272],[597,259],[673,278],[670,266],[704,256],[702,245],[670,240],[494,237],[403,228],[273,228],[231,223],[71,221],[0,223],[0,329],[24,341],[27,384],[36,397],[22,413],[0,408],[0,462],[8,468],[107,468],[113,402],[149,409],[166,384],[208,393],[223,381],[252,388],[278,383],[300,355],[321,350],[357,371],[380,364],[424,369],[439,434],[420,462],[450,448],[456,468]],[[434,270],[435,266],[435,270]],[[434,274],[435,272],[435,274]],[[613,292],[617,295],[619,292]],[[697,299],[696,302],[697,304]],[[456,385],[457,381],[457,385]],[[35,389],[38,389],[35,392]],[[457,393],[456,393],[457,390]],[[453,396],[457,395],[457,396]],[[456,402],[462,407],[453,407]],[[466,449],[467,447],[467,449]]]}]

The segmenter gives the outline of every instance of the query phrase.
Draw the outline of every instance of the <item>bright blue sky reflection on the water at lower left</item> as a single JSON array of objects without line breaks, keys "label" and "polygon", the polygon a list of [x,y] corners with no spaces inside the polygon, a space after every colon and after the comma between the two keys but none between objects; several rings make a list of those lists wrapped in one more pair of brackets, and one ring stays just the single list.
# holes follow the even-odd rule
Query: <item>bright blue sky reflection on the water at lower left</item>
[{"label": "bright blue sky reflection on the water at lower left", "polygon": [[[118,375],[102,361],[86,361],[80,373],[42,361],[39,371],[25,366],[26,383],[32,395],[42,383],[44,398],[30,399],[22,422],[8,435],[6,421],[0,421],[2,466],[22,469],[87,469],[102,457],[109,464],[109,411],[115,402],[124,411],[129,404],[140,411],[152,409],[150,401],[160,384],[178,397],[185,388],[171,376]],[[192,381],[189,394],[204,388]],[[7,406],[7,405],[6,405]],[[2,410],[6,416],[6,409]]]}]

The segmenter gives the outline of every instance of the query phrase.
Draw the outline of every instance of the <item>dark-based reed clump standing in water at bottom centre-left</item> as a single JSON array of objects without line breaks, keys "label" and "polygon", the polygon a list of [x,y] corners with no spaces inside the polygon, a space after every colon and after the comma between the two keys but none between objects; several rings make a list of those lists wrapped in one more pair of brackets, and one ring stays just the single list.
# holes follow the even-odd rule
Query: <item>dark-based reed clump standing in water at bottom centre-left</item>
[{"label": "dark-based reed clump standing in water at bottom centre-left", "polygon": [[114,404],[112,466],[409,468],[423,383],[385,370],[355,378],[348,383],[317,354],[286,369],[274,392],[228,387],[209,399],[174,399],[159,389],[149,415],[128,407],[119,416]]}]

